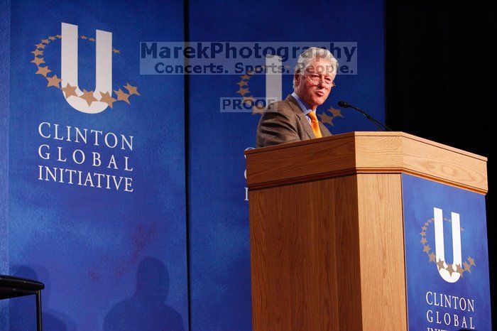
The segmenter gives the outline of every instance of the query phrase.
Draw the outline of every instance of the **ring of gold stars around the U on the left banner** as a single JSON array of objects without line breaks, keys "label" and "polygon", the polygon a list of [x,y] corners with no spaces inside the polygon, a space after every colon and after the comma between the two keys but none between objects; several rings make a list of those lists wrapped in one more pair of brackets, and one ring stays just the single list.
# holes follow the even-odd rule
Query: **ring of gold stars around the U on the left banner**
[{"label": "ring of gold stars around the U on the left banner", "polygon": [[[82,40],[88,40],[90,43],[95,43],[95,38],[88,38],[87,36],[79,36]],[[69,83],[65,85],[65,87],[60,87],[60,82],[62,81],[57,75],[49,75],[52,70],[48,67],[48,65],[45,63],[45,58],[41,58],[43,55],[43,52],[45,52],[45,47],[52,43],[55,40],[62,39],[62,36],[60,35],[55,35],[55,36],[48,36],[48,38],[41,39],[40,43],[35,45],[35,50],[33,50],[31,53],[33,53],[34,58],[31,60],[31,63],[34,63],[36,65],[36,72],[35,75],[42,75],[45,77],[45,79],[48,81],[47,87],[56,87],[60,90],[62,90],[63,94],[65,95],[65,99],[68,97],[75,97],[75,98],[80,98],[84,99],[84,101],[87,102],[88,106],[92,104],[92,102],[105,102],[109,105],[109,107],[113,107],[114,102],[126,102],[126,104],[131,104],[129,101],[129,97],[131,95],[138,95],[140,96],[140,93],[138,93],[138,87],[132,86],[129,83],[126,83],[122,88],[126,89],[128,92],[126,93],[121,87],[117,90],[114,90],[115,97],[114,98],[112,95],[112,92],[105,92],[102,93],[100,92],[100,99],[97,99],[93,95],[93,90],[87,91],[86,89],[83,89],[83,94],[78,96],[76,94],[76,86],[71,86]],[[117,50],[116,48],[112,49],[112,52],[114,54],[119,54],[121,53],[120,50]],[[45,65],[43,65],[45,64]]]}]

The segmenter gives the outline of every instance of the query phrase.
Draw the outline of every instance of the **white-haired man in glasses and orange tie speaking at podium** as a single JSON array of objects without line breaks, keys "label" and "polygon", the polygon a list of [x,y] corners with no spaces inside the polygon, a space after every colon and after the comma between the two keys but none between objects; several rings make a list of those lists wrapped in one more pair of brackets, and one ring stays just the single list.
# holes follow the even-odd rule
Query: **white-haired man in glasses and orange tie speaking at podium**
[{"label": "white-haired man in glasses and orange tie speaking at podium", "polygon": [[317,120],[337,75],[338,62],[324,48],[309,48],[300,54],[293,74],[293,93],[269,104],[257,126],[257,147],[331,136]]}]

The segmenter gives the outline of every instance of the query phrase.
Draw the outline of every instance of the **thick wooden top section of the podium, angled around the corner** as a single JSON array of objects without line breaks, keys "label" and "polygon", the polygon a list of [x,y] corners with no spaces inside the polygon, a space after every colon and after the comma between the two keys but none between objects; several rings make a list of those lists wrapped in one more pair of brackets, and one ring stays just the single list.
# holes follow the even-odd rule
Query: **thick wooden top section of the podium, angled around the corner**
[{"label": "thick wooden top section of the podium, angled around the corner", "polygon": [[403,132],[350,132],[245,152],[250,189],[354,173],[407,173],[481,194],[484,156]]}]

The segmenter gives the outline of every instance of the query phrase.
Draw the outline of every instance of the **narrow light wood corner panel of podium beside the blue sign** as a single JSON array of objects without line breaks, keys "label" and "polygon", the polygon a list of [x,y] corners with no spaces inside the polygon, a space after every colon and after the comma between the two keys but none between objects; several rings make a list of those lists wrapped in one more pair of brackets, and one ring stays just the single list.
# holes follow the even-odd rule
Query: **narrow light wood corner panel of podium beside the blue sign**
[{"label": "narrow light wood corner panel of podium beside the blue sign", "polygon": [[357,330],[407,330],[401,177],[360,174],[357,182],[363,307]]}]

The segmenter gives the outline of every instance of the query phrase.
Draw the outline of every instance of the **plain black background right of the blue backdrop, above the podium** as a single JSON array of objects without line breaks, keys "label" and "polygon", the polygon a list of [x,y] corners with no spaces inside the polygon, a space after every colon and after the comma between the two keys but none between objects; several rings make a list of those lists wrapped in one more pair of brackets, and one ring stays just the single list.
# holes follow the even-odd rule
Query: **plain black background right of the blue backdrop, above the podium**
[{"label": "plain black background right of the blue backdrop, above the podium", "polygon": [[395,131],[488,158],[488,255],[497,325],[496,4],[386,1],[386,119]]}]

